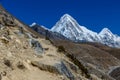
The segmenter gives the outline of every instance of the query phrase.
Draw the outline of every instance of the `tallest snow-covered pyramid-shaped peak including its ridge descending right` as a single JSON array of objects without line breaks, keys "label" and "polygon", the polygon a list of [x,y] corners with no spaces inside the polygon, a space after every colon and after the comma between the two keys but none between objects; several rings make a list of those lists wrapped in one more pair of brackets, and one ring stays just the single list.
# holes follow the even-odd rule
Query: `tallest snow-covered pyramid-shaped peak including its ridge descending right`
[{"label": "tallest snow-covered pyramid-shaped peak including its ridge descending right", "polygon": [[[96,41],[97,33],[80,26],[78,22],[69,14],[63,15],[56,25],[51,29],[53,32],[58,32],[71,40]],[[96,37],[93,39],[93,37]]]}]

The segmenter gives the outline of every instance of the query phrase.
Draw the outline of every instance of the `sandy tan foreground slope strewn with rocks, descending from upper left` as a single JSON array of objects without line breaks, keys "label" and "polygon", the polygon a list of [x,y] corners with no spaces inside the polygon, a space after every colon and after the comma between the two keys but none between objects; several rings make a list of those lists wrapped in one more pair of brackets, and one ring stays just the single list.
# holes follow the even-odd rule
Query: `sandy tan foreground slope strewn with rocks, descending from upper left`
[{"label": "sandy tan foreground slope strewn with rocks, descending from upper left", "polygon": [[0,80],[101,80],[71,59],[0,6]]}]

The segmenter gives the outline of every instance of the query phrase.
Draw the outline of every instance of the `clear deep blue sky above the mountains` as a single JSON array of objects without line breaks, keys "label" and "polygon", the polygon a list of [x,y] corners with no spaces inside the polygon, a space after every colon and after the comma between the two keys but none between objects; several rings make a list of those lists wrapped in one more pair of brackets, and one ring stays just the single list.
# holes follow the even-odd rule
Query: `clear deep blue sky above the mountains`
[{"label": "clear deep blue sky above the mountains", "polygon": [[120,0],[0,0],[2,5],[26,24],[36,22],[51,28],[68,13],[80,25],[96,32],[108,27],[120,35]]}]

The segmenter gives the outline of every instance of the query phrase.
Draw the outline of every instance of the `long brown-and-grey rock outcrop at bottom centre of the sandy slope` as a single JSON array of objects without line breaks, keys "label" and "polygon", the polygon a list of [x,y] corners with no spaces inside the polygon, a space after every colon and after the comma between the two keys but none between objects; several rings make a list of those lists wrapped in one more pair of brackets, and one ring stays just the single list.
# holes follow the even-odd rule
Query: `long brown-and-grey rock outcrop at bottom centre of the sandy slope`
[{"label": "long brown-and-grey rock outcrop at bottom centre of the sandy slope", "polygon": [[38,67],[41,70],[45,70],[45,71],[49,71],[52,73],[57,73],[57,74],[63,75],[65,77],[67,77],[69,80],[75,80],[74,75],[67,68],[67,66],[63,63],[63,61],[55,63],[54,65],[44,64],[44,63],[38,62],[38,61],[32,61],[31,64]]}]

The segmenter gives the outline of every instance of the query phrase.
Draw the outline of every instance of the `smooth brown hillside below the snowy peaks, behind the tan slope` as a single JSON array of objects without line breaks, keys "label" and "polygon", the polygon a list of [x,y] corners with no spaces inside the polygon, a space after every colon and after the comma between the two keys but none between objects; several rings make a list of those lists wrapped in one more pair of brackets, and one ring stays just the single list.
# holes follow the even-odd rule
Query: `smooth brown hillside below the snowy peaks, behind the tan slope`
[{"label": "smooth brown hillside below the snowy peaks, behind the tan slope", "polygon": [[120,79],[118,74],[120,73],[120,49],[110,48],[99,43],[74,43],[52,39],[51,41],[55,46],[62,46],[66,55],[74,56],[75,59],[86,66],[89,73],[96,74],[103,79],[105,77]]}]

